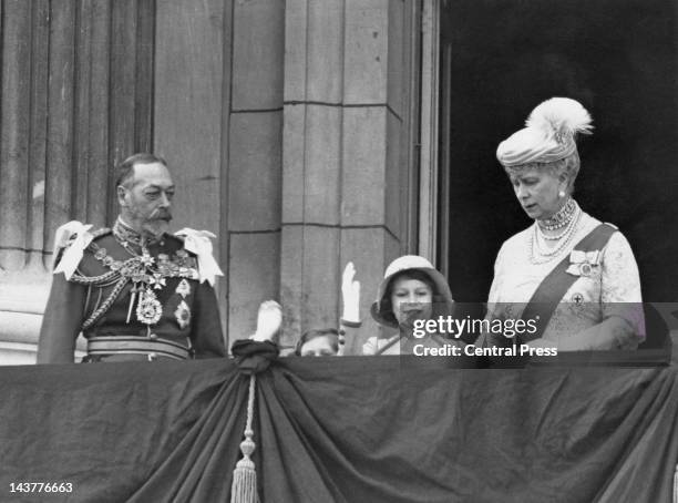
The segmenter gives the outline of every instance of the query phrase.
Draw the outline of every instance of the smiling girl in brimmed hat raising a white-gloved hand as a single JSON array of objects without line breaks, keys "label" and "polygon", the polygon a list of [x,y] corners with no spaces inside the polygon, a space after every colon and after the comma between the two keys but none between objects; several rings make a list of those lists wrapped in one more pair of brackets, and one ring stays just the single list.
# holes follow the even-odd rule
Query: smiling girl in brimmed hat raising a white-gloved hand
[{"label": "smiling girl in brimmed hat raising a white-gloved hand", "polygon": [[[359,319],[360,284],[353,280],[355,274],[356,269],[349,263],[342,280],[345,330],[356,326],[351,320]],[[453,304],[448,281],[429,260],[417,255],[397,258],[387,267],[370,314],[379,325],[396,328],[398,333],[390,338],[370,337],[362,353],[424,356],[424,348],[463,347],[464,343],[453,333],[443,335],[423,328],[427,320],[451,316]]]}]

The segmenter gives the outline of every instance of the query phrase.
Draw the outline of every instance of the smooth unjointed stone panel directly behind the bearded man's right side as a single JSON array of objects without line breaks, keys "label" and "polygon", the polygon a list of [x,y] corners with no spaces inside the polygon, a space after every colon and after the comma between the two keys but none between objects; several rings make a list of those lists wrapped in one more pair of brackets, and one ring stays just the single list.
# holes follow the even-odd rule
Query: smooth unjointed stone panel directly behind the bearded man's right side
[{"label": "smooth unjointed stone panel directly behind the bearded man's right side", "polygon": [[[225,274],[229,20],[230,6],[223,0],[156,4],[153,143],[176,185],[172,227],[216,234],[214,256]],[[216,290],[224,322],[224,278],[217,280]]]}]

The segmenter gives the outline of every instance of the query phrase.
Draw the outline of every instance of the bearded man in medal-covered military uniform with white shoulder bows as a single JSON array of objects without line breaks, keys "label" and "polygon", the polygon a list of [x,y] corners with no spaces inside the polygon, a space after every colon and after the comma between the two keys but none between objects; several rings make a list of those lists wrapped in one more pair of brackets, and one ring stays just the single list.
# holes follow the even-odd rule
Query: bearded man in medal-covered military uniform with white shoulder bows
[{"label": "bearded man in medal-covered military uniform with white shoulder bows", "polygon": [[38,363],[210,358],[226,355],[213,289],[222,271],[214,237],[166,234],[174,183],[165,161],[136,154],[119,167],[120,216],[90,233],[71,222],[56,230],[55,269],[44,312]]}]

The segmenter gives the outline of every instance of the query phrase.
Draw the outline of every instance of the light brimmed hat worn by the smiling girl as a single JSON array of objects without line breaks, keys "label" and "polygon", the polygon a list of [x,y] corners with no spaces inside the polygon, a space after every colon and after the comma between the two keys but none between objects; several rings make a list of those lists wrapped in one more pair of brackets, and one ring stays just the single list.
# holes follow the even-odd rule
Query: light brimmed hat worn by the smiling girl
[{"label": "light brimmed hat worn by the smiling girl", "polygon": [[398,328],[398,320],[393,314],[391,299],[387,299],[384,297],[389,290],[389,286],[393,277],[409,270],[418,270],[423,273],[433,283],[433,286],[435,287],[435,291],[433,292],[434,316],[448,316],[452,314],[452,305],[454,304],[454,300],[452,299],[452,291],[450,290],[450,286],[448,285],[445,277],[439,273],[425,258],[420,257],[419,255],[403,255],[402,257],[398,257],[396,260],[389,264],[389,267],[387,267],[387,270],[383,274],[383,280],[377,290],[377,300],[370,308],[370,314],[378,324]]}]

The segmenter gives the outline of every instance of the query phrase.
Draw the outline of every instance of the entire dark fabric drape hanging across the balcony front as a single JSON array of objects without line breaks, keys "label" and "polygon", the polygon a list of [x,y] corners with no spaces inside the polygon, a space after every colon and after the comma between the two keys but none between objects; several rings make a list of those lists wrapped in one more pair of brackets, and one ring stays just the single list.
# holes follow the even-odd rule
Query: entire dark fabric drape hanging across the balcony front
[{"label": "entire dark fabric drape hanging across the balcony front", "polygon": [[[0,369],[1,501],[228,501],[233,360]],[[678,368],[288,358],[257,374],[263,502],[671,502]]]}]

